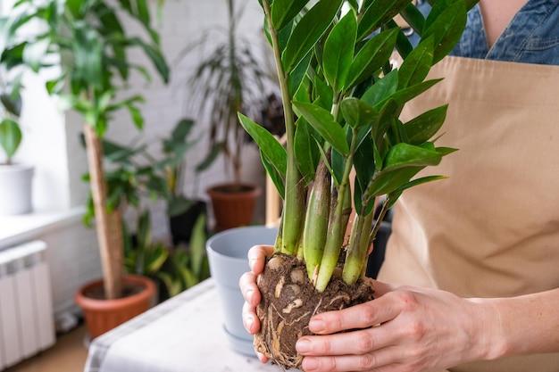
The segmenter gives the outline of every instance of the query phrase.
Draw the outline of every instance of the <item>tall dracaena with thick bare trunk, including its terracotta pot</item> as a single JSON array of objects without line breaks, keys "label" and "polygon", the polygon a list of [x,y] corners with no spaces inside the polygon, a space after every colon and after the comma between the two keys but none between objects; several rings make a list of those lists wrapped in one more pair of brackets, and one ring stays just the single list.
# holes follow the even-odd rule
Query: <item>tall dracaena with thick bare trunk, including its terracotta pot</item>
[{"label": "tall dracaena with thick bare trunk, including its terracotta pot", "polygon": [[[42,26],[37,35],[14,47],[21,48],[23,54],[33,51],[34,55],[43,54],[45,58],[60,61],[62,73],[48,81],[46,89],[50,94],[60,95],[68,108],[84,120],[104,278],[82,288],[76,300],[84,310],[89,333],[95,337],[146,310],[154,296],[151,280],[122,275],[121,211],[107,205],[101,139],[113,113],[121,109],[128,109],[134,124],[143,127],[138,109],[143,98],[140,95],[124,100],[117,98],[117,93],[124,88],[121,82],[128,81],[133,70],[149,78],[145,67],[129,61],[128,50],[132,47],[142,50],[165,81],[168,66],[160,51],[159,37],[151,27],[146,0],[122,0],[116,4],[103,0],[41,3],[22,0],[13,11],[23,14],[23,24],[36,21]],[[130,37],[123,29],[119,12],[127,12],[131,19],[138,21],[146,29],[149,40]]]}]

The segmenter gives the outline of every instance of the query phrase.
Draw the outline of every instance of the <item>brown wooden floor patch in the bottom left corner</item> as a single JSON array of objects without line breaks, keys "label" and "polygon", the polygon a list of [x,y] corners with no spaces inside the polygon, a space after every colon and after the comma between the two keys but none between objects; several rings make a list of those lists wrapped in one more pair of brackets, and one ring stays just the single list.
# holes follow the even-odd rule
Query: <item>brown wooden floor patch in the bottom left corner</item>
[{"label": "brown wooden floor patch in the bottom left corner", "polygon": [[82,372],[88,358],[84,335],[85,328],[79,327],[59,337],[51,349],[4,372]]}]

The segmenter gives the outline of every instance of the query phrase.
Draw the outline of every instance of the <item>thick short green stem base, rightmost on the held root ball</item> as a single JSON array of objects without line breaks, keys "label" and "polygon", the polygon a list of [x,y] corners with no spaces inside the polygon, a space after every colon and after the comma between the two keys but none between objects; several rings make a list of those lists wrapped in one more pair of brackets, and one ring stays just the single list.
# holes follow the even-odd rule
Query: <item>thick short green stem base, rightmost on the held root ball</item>
[{"label": "thick short green stem base, rightmost on the held root ball", "polygon": [[369,251],[369,232],[371,231],[374,213],[367,216],[355,216],[351,230],[349,247],[347,248],[346,263],[342,277],[347,285],[354,285],[362,276],[367,252]]}]

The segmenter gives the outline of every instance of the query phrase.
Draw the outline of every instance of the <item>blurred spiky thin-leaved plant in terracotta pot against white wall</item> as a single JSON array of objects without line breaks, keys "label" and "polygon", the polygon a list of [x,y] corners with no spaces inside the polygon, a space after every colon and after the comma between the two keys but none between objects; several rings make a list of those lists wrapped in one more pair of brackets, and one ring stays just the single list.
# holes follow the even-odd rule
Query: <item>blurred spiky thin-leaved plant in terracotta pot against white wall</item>
[{"label": "blurred spiky thin-leaved plant in terracotta pot against white wall", "polygon": [[[235,1],[227,0],[229,28],[227,37],[218,42],[195,68],[190,79],[194,107],[209,115],[211,150],[220,149],[233,182],[208,190],[212,199],[216,229],[224,230],[250,224],[254,215],[258,186],[242,182],[242,150],[246,135],[238,126],[237,112],[249,113],[264,92],[265,72],[251,51],[250,43],[239,37],[240,16]],[[197,45],[213,37],[204,36]]]}]

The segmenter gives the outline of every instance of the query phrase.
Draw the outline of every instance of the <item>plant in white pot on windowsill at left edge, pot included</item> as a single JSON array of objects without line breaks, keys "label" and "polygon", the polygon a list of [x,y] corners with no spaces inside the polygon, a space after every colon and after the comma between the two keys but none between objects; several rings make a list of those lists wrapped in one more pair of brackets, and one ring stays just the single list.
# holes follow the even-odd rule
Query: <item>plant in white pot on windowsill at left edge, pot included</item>
[{"label": "plant in white pot on windowsill at left edge, pot included", "polygon": [[17,14],[0,18],[0,215],[24,214],[32,210],[31,181],[33,167],[13,161],[21,145],[21,78],[26,70],[18,52],[16,30],[21,19]]}]

